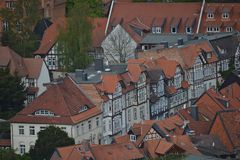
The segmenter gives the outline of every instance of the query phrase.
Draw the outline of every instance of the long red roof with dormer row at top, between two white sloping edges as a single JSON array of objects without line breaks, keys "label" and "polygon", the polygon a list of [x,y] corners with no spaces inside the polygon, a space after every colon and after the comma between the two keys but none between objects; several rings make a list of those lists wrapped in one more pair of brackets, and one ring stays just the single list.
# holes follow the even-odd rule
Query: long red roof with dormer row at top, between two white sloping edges
[{"label": "long red roof with dormer row at top, between two white sloping edges", "polygon": [[[140,29],[148,30],[152,27],[152,24],[155,25],[155,20],[165,18],[165,25],[163,32],[169,33],[171,20],[181,19],[179,24],[178,31],[180,33],[185,33],[185,24],[189,18],[195,18],[198,20],[200,13],[201,3],[123,3],[115,2],[112,15],[110,19],[110,25],[116,21],[116,19],[123,19],[122,26],[128,31],[128,33],[135,39],[136,42],[139,39],[135,38],[136,34],[133,29],[129,26],[132,25],[132,21],[135,19],[137,23],[134,23],[135,27]],[[156,12],[161,11],[161,12]],[[181,12],[184,11],[184,12]],[[137,25],[136,25],[137,24]],[[159,26],[161,25],[158,24]],[[194,26],[196,30],[197,24]],[[110,30],[110,28],[109,28]],[[142,38],[137,36],[137,38]]]}]

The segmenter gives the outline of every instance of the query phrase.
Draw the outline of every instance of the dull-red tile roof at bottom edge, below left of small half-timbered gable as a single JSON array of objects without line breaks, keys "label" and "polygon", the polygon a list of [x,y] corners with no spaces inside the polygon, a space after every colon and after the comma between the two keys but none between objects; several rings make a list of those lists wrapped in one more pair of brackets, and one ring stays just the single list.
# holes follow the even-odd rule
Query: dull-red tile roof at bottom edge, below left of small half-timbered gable
[{"label": "dull-red tile roof at bottom edge, below left of small half-timbered gable", "polygon": [[144,155],[132,143],[96,145],[91,147],[97,160],[132,160],[142,159]]}]

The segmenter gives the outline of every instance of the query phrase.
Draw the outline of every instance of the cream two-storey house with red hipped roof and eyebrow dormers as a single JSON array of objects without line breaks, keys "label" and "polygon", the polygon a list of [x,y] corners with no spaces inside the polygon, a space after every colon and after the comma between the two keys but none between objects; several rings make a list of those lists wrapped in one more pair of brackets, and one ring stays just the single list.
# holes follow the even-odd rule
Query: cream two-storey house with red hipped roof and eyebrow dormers
[{"label": "cream two-storey house with red hipped roof and eyebrow dormers", "polygon": [[49,84],[43,94],[10,119],[11,146],[18,154],[29,152],[38,138],[37,133],[50,125],[67,132],[76,144],[83,140],[99,144],[101,113],[101,108],[66,77]]}]

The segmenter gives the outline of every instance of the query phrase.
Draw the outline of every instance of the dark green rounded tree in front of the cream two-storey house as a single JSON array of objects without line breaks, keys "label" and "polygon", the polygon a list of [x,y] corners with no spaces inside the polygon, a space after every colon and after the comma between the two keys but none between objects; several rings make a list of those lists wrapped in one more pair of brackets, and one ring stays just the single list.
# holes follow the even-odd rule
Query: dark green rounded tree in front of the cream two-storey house
[{"label": "dark green rounded tree in front of the cream two-storey house", "polygon": [[56,147],[73,145],[74,139],[58,127],[50,126],[38,133],[38,139],[30,156],[34,160],[50,159]]}]

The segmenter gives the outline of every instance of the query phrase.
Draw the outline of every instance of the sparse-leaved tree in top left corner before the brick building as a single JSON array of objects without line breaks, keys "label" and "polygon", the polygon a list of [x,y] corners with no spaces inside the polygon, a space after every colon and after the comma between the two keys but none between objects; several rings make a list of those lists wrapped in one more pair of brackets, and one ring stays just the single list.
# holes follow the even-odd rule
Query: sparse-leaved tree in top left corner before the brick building
[{"label": "sparse-leaved tree in top left corner before the brick building", "polygon": [[24,57],[31,57],[39,44],[38,37],[33,32],[40,20],[39,3],[36,0],[17,0],[13,8],[0,10],[0,16],[8,23],[1,39],[2,44]]}]

